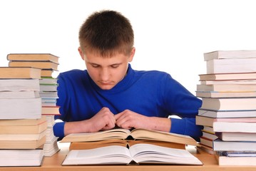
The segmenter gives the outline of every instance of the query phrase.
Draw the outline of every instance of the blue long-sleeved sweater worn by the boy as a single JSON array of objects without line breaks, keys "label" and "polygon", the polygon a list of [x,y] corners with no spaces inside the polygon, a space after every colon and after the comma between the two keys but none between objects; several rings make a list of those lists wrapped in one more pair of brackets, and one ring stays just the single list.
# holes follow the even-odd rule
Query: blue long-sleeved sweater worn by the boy
[{"label": "blue long-sleeved sweater worn by the boy", "polygon": [[53,127],[54,135],[63,138],[67,121],[87,120],[103,107],[113,114],[129,109],[146,116],[171,118],[171,133],[190,135],[198,140],[201,127],[195,125],[195,115],[202,101],[175,81],[168,73],[160,71],[135,71],[128,73],[111,90],[102,90],[94,83],[88,72],[72,70],[58,76],[58,100],[61,119]]}]

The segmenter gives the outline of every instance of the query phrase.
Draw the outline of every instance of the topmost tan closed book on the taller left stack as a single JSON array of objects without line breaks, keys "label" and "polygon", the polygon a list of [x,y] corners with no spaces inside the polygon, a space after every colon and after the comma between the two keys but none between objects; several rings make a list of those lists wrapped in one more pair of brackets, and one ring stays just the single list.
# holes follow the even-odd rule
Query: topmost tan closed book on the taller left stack
[{"label": "topmost tan closed book on the taller left stack", "polygon": [[8,61],[51,61],[58,63],[58,56],[51,53],[9,53]]}]

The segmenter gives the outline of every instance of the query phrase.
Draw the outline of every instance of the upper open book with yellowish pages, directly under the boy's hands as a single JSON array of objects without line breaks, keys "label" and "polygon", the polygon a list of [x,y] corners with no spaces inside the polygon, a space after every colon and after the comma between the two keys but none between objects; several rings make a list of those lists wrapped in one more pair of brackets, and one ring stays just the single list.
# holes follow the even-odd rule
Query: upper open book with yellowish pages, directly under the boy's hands
[{"label": "upper open book with yellowish pages, directly under the boy's hands", "polygon": [[[156,144],[165,147],[177,147],[177,145],[183,145],[183,147],[178,148],[185,148],[185,145],[198,146],[198,142],[188,135],[166,133],[156,130],[145,130],[141,128],[134,130],[117,128],[99,131],[96,133],[73,133],[66,135],[61,142],[71,142],[71,150],[89,149],[90,147],[85,147],[86,145],[92,145],[91,148],[108,145],[122,145],[126,147],[137,143]],[[84,147],[73,148],[72,145],[83,145]]]}]

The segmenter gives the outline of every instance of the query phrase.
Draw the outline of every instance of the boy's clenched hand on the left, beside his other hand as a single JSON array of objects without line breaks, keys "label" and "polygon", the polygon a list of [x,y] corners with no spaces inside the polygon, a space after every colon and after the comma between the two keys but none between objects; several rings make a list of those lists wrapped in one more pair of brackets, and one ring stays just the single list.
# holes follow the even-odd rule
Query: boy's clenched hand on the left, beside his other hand
[{"label": "boy's clenched hand on the left, beside his other hand", "polygon": [[97,132],[98,130],[110,130],[116,125],[116,118],[109,108],[102,108],[93,118],[88,120],[91,128],[89,132]]}]

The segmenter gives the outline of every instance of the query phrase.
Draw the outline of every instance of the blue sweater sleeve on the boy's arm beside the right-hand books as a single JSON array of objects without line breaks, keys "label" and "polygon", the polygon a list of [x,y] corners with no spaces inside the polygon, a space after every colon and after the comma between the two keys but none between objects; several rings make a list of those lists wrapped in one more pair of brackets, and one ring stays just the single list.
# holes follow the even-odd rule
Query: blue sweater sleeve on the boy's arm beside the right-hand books
[{"label": "blue sweater sleeve on the boy's arm beside the right-hand books", "polygon": [[202,126],[195,125],[195,115],[198,115],[202,100],[190,93],[170,75],[166,78],[164,93],[168,111],[180,117],[171,118],[170,132],[190,135],[195,140],[198,140],[202,135]]}]

